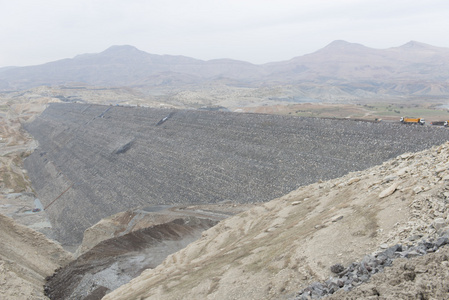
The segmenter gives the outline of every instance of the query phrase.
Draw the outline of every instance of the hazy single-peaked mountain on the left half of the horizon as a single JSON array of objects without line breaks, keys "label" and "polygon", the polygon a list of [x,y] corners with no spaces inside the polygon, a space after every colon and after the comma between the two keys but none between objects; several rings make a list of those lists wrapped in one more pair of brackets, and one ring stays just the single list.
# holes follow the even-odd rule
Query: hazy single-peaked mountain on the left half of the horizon
[{"label": "hazy single-peaked mountain on the left half of the horizon", "polygon": [[[133,46],[112,46],[97,54],[82,54],[43,65],[6,70],[0,89],[26,89],[40,85],[82,82],[100,86],[198,83],[218,76],[245,79],[257,66],[234,60],[202,61],[185,56],[155,55]],[[249,70],[249,72],[248,72]]]}]

